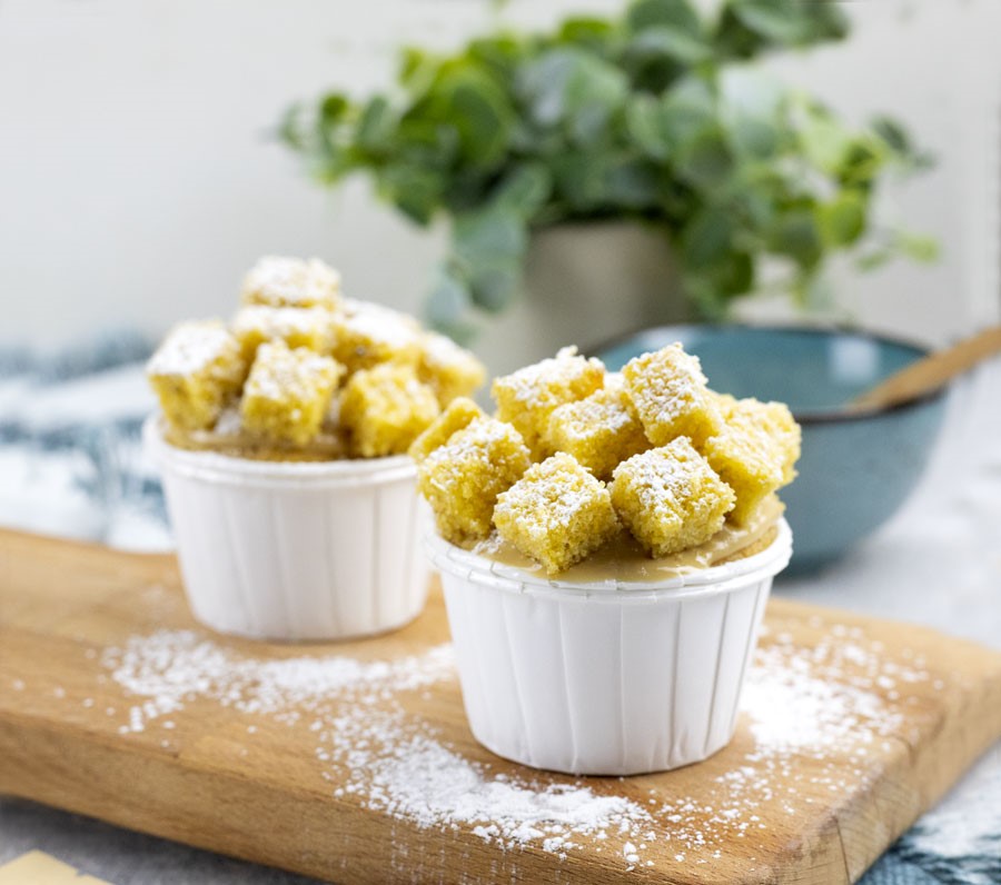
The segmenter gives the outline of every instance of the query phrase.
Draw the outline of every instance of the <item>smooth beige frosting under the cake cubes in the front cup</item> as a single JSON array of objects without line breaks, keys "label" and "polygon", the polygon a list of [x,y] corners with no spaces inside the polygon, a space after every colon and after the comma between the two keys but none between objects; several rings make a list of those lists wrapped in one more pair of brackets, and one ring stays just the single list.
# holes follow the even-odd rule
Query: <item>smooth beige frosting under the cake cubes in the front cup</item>
[{"label": "smooth beige frosting under the cake cubes in the front cup", "polygon": [[[785,510],[775,495],[765,498],[745,526],[725,525],[705,544],[673,556],[651,559],[635,538],[621,531],[583,563],[561,573],[556,580],[569,584],[594,584],[607,580],[666,580],[718,565],[762,540]],[[543,566],[517,550],[495,531],[473,547],[473,553],[505,566],[513,566],[545,578]]]}]

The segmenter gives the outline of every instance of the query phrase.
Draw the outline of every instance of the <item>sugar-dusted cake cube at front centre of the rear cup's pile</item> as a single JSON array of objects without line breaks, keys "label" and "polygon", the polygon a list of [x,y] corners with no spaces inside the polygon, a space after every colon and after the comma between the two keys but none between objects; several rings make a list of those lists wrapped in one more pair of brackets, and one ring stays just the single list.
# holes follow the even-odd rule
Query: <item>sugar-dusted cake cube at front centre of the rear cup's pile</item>
[{"label": "sugar-dusted cake cube at front centre of the rear cup's pile", "polygon": [[305,446],[320,429],[344,366],[285,341],[257,348],[244,386],[244,428],[276,446]]}]

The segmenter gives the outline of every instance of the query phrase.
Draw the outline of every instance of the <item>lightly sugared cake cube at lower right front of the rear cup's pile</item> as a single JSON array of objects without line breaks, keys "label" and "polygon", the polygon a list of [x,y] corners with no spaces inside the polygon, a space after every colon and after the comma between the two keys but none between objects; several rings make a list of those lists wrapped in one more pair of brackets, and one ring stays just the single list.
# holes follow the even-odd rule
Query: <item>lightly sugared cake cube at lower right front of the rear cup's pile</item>
[{"label": "lightly sugared cake cube at lower right front of the rear cup's pile", "polygon": [[438,417],[434,391],[412,366],[387,362],[356,371],[340,395],[340,424],[363,458],[399,455]]}]

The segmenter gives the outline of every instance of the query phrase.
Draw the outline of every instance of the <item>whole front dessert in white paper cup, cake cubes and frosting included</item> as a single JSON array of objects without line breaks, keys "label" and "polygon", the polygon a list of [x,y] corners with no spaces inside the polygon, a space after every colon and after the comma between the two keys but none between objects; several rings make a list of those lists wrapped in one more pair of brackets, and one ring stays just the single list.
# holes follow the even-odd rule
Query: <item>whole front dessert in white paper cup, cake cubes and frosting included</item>
[{"label": "whole front dessert in white paper cup, cake cubes and frosting included", "polygon": [[715,394],[678,345],[621,375],[565,349],[493,394],[410,449],[474,736],[569,774],[716,753],[792,553],[789,409]]}]

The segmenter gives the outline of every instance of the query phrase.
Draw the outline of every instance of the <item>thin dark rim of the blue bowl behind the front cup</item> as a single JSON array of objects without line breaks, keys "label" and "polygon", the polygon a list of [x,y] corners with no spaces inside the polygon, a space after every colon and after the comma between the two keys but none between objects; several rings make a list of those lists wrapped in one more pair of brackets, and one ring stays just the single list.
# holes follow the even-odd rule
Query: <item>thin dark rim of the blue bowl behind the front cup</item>
[{"label": "thin dark rim of the blue bowl behind the front cup", "polygon": [[[918,344],[916,341],[908,339],[903,336],[886,335],[883,332],[876,332],[870,329],[859,329],[853,326],[842,324],[801,326],[794,322],[664,322],[658,326],[644,326],[637,329],[633,329],[632,331],[615,335],[612,338],[606,338],[605,340],[586,348],[585,352],[588,356],[595,356],[603,351],[611,350],[614,347],[624,345],[631,338],[635,338],[636,336],[668,329],[740,329],[750,332],[799,332],[805,335],[824,336],[827,338],[850,335],[854,338],[868,338],[872,341],[878,341],[879,344],[893,345],[895,347],[903,347],[909,350],[913,350],[919,355],[919,358],[933,352],[931,347]],[[928,394],[924,394],[923,396],[909,400],[908,402],[898,402],[893,406],[875,406],[854,410],[851,410],[845,406],[833,409],[796,409],[793,410],[793,417],[801,425],[848,424],[851,421],[868,420],[870,418],[878,418],[883,415],[891,415],[894,412],[902,412],[910,409],[920,408],[922,406],[934,402],[935,400],[942,399],[948,390],[949,385],[945,384],[938,390],[932,390]]]}]

